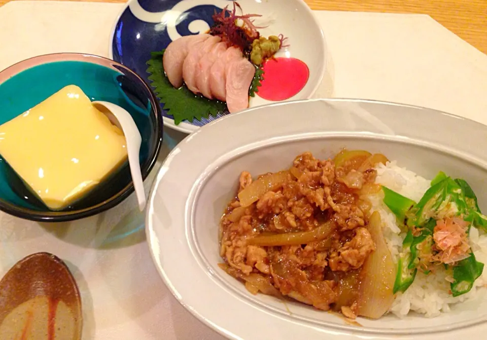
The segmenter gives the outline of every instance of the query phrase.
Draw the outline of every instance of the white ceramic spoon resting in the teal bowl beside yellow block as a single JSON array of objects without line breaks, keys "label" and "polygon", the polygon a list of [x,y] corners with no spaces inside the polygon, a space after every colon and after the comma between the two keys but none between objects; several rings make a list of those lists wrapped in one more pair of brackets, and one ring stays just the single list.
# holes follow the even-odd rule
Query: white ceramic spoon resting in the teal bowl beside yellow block
[{"label": "white ceramic spoon resting in the teal bowl beside yellow block", "polygon": [[144,182],[142,181],[141,165],[139,162],[142,144],[141,133],[138,131],[132,116],[125,109],[107,101],[93,101],[91,104],[103,112],[112,124],[117,125],[125,135],[128,164],[130,166],[130,174],[132,175],[133,187],[137,196],[138,208],[143,211],[146,206],[146,194],[144,192]]}]

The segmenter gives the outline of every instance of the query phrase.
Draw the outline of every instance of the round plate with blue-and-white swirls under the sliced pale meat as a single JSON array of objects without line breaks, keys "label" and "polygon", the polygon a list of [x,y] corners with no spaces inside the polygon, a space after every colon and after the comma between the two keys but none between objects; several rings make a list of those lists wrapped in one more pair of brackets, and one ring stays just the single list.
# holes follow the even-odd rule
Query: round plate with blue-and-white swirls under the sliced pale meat
[{"label": "round plate with blue-and-white swirls under the sliced pale meat", "polygon": [[[308,6],[302,0],[240,0],[238,3],[243,13],[262,15],[255,22],[259,26],[267,25],[259,29],[262,36],[282,33],[288,37],[286,43],[290,46],[281,49],[276,56],[292,56],[308,66],[306,85],[287,100],[310,98],[325,73],[326,47],[323,30]],[[220,12],[227,5],[233,8],[230,0],[129,0],[112,29],[109,56],[150,84],[146,62],[151,58],[151,52],[161,51],[181,36],[208,30],[213,24],[215,10]],[[269,103],[255,96],[250,100],[250,107]],[[214,119],[175,125],[169,112],[163,110],[164,125],[187,133]]]}]

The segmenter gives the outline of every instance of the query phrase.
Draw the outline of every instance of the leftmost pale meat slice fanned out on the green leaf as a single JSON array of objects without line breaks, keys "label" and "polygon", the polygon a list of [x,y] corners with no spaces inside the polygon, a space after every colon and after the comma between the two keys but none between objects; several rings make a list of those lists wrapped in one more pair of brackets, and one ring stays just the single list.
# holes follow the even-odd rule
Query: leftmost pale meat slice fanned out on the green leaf
[{"label": "leftmost pale meat slice fanned out on the green leaf", "polygon": [[208,38],[210,35],[207,34],[185,36],[176,39],[167,46],[162,56],[162,66],[172,86],[179,88],[183,85],[183,62],[188,55],[189,46],[203,42]]}]

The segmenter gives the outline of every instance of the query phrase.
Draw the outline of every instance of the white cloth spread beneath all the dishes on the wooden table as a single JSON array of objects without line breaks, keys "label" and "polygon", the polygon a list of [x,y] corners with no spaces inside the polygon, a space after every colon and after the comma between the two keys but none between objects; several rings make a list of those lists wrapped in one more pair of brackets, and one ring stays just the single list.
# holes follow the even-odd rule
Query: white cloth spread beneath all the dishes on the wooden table
[{"label": "white cloth spread beneath all the dishes on the wooden table", "polygon": [[[0,8],[0,70],[45,53],[107,56],[110,30],[123,6],[39,1],[5,5]],[[396,101],[487,124],[487,55],[430,17],[315,13],[330,52],[317,96]],[[183,137],[165,130],[160,161]],[[158,167],[146,180],[146,189]],[[162,283],[145,241],[144,215],[135,207],[132,195],[109,212],[62,224],[26,222],[0,213],[0,275],[38,251],[66,261],[82,294],[84,339],[221,339]]]}]

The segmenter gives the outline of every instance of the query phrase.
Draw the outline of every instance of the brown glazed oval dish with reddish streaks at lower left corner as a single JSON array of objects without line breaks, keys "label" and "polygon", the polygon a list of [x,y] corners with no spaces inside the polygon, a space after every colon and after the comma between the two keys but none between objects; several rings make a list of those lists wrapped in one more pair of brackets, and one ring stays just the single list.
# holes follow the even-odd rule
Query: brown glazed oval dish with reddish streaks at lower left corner
[{"label": "brown glazed oval dish with reddish streaks at lower left corner", "polygon": [[81,339],[81,298],[66,264],[49,253],[17,262],[0,281],[0,339]]}]

